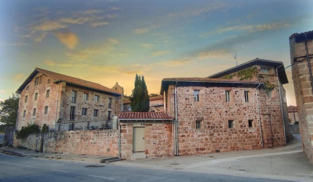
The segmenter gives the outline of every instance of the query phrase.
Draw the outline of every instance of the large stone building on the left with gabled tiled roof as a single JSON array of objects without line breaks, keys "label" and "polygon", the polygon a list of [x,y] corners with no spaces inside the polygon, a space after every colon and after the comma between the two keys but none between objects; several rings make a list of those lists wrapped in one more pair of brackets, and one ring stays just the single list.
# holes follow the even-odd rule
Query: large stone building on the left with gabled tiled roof
[{"label": "large stone building on the left with gabled tiled roof", "polygon": [[40,68],[28,76],[17,93],[18,130],[28,123],[49,125],[52,130],[108,127],[107,120],[113,122],[122,109],[119,90]]}]

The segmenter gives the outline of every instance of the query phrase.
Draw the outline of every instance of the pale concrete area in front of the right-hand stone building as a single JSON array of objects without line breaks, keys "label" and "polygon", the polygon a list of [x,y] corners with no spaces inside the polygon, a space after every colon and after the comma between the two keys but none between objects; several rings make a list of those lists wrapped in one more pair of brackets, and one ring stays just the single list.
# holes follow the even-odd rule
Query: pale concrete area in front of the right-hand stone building
[{"label": "pale concrete area in front of the right-hand stone building", "polygon": [[302,151],[299,134],[295,134],[287,146],[280,148],[119,161],[114,164],[195,173],[313,181],[313,166]]}]

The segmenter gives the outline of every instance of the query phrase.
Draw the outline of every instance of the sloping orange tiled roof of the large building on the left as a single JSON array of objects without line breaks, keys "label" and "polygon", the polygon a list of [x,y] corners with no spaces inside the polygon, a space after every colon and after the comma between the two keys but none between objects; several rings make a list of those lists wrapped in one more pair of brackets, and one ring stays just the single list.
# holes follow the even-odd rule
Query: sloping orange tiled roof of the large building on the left
[{"label": "sloping orange tiled roof of the large building on the left", "polygon": [[121,95],[121,93],[119,93],[118,91],[115,91],[113,89],[110,89],[108,87],[102,86],[98,83],[94,83],[91,81],[82,80],[79,78],[55,73],[55,72],[40,69],[40,68],[36,68],[35,71],[38,71],[38,72],[43,73],[44,75],[50,76],[50,77],[54,78],[55,80],[60,80],[60,81],[68,82],[68,83],[73,83],[75,85],[85,86],[85,87],[97,89],[100,91],[107,91],[107,92],[112,92],[112,93]]}]

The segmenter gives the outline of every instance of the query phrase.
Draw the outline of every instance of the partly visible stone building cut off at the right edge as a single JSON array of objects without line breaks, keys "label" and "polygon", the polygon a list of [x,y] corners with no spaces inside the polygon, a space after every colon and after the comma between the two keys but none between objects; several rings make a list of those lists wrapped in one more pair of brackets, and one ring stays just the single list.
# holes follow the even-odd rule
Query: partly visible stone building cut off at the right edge
[{"label": "partly visible stone building cut off at the right edge", "polygon": [[292,34],[289,44],[302,147],[313,163],[313,31]]}]

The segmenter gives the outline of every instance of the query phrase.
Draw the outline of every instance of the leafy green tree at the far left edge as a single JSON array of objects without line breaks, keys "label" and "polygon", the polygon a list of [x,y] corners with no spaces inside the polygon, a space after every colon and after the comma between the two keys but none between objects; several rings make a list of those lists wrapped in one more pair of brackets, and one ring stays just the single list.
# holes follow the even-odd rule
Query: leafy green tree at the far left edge
[{"label": "leafy green tree at the far left edge", "polygon": [[12,97],[0,101],[0,122],[5,126],[15,126],[18,113],[18,94],[12,94]]}]

